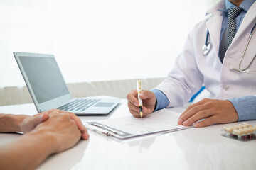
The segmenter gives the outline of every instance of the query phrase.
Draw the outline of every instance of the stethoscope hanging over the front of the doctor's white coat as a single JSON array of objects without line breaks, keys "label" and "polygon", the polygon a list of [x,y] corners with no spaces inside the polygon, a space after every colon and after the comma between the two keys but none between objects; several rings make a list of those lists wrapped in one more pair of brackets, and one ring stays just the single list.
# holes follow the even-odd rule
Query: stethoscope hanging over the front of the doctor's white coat
[{"label": "stethoscope hanging over the front of the doctor's white coat", "polygon": [[[240,61],[239,61],[239,64],[238,64],[238,69],[235,69],[235,68],[233,68],[233,67],[230,67],[230,70],[237,71],[237,72],[247,72],[247,73],[250,73],[250,69],[248,69],[248,68],[251,66],[252,62],[255,60],[256,54],[255,54],[255,56],[252,58],[252,61],[250,62],[250,64],[248,64],[248,66],[245,67],[244,69],[241,69],[241,63],[242,63],[243,58],[245,57],[245,52],[246,52],[247,47],[248,47],[248,45],[249,45],[249,43],[250,43],[250,40],[252,39],[252,35],[256,32],[256,29],[255,29],[255,28],[256,28],[256,24],[255,24],[255,26],[253,26],[253,28],[252,28],[252,30],[251,30],[251,33],[250,33],[250,36],[249,36],[249,38],[248,38],[248,40],[247,40],[247,42],[246,42],[245,49],[243,50],[242,56],[240,57]],[[204,44],[203,47],[202,47],[203,55],[208,55],[208,53],[209,53],[209,51],[210,51],[211,45],[210,45],[210,42],[208,42],[208,38],[209,38],[209,30],[207,30],[207,33],[206,33],[206,42],[205,42],[205,44]]]}]

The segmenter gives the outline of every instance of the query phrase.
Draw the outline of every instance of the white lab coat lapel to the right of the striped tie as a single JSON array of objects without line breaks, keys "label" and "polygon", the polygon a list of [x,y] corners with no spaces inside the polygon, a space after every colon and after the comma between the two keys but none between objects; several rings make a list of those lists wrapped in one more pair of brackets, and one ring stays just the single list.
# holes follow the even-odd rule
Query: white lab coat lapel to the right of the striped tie
[{"label": "white lab coat lapel to the right of the striped tie", "polygon": [[255,19],[256,17],[256,1],[252,4],[249,11],[247,11],[245,18],[243,19],[240,28],[238,29],[238,32],[235,34],[235,38],[233,41],[238,39],[238,37],[244,32],[244,30],[247,28],[247,26],[250,25],[250,23]]}]

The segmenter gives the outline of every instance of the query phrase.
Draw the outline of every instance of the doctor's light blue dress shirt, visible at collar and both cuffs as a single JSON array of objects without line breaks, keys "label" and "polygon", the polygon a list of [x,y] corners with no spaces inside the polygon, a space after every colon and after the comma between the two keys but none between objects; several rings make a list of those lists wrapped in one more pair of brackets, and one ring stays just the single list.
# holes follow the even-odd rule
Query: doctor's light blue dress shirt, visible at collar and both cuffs
[{"label": "doctor's light blue dress shirt, visible at collar and both cuffs", "polygon": [[[236,21],[236,30],[240,27],[240,24],[242,23],[243,18],[245,17],[245,14],[249,10],[250,6],[255,2],[256,0],[244,0],[242,1],[242,4],[240,4],[240,7],[243,9],[239,16],[235,18]],[[223,37],[223,33],[225,31],[225,28],[228,26],[228,16],[227,12],[229,8],[235,7],[234,4],[232,4],[230,1],[225,1],[225,9],[219,9],[218,11],[223,11],[223,23],[221,26],[221,32],[220,32],[220,40]],[[151,89],[153,93],[156,95],[156,108],[155,111],[166,108],[169,105],[169,100],[166,97],[166,95],[158,90],[158,89]],[[238,121],[242,120],[256,120],[256,96],[244,96],[241,98],[230,98],[228,99],[233,106],[235,107],[235,110],[238,113]]]}]

